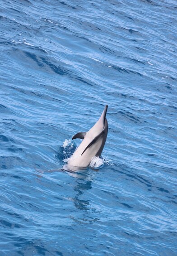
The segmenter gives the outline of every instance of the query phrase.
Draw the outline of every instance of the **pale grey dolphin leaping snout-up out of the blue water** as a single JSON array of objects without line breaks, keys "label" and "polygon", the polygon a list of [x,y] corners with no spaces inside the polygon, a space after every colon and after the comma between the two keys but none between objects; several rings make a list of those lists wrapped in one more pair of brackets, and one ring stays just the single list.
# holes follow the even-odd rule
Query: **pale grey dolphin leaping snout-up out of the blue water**
[{"label": "pale grey dolphin leaping snout-up out of the blue water", "polygon": [[94,156],[101,156],[108,131],[107,107],[106,105],[99,120],[89,131],[79,132],[72,137],[72,140],[82,139],[83,141],[68,160],[68,166],[87,167]]}]

